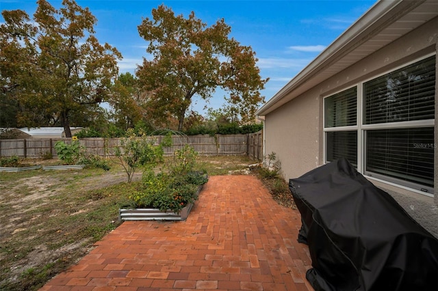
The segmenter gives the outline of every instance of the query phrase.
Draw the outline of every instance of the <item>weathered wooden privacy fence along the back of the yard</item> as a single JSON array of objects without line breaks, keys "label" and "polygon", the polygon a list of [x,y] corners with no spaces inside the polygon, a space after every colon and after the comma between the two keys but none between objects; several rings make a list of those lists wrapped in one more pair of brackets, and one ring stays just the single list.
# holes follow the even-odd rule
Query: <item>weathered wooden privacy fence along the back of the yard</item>
[{"label": "weathered wooden privacy fence along the back of the yard", "polygon": [[[248,135],[194,135],[181,136],[172,135],[172,146],[164,148],[164,154],[169,156],[190,144],[201,155],[244,155],[261,160],[263,149],[261,142],[261,131]],[[151,137],[156,144],[161,143],[163,136]],[[0,156],[19,156],[23,158],[40,158],[46,154],[56,156],[56,141],[70,143],[71,139],[0,139]],[[120,139],[107,138],[83,138],[79,139],[81,146],[86,148],[90,154],[98,156],[114,155],[114,148],[120,146]]]}]

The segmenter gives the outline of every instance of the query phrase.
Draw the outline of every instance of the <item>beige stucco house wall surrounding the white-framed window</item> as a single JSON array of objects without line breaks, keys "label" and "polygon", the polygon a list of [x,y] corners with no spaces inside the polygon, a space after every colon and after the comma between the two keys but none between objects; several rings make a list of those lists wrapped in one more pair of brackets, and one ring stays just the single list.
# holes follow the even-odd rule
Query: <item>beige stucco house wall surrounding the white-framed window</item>
[{"label": "beige stucco house wall surrounding the white-framed window", "polygon": [[[322,99],[437,51],[438,18],[428,21],[354,66],[335,74],[265,116],[265,154],[275,152],[286,180],[324,163]],[[438,62],[437,62],[438,63]],[[437,81],[438,85],[438,81]],[[438,86],[437,86],[438,87]],[[438,94],[435,94],[438,98]],[[438,105],[438,100],[435,102]],[[438,110],[435,110],[438,115]],[[435,121],[438,117],[435,117]],[[437,126],[435,126],[437,132]],[[435,143],[438,144],[437,135]],[[435,153],[435,167],[438,154]],[[435,170],[438,184],[438,170]],[[435,202],[438,195],[435,195]]]}]

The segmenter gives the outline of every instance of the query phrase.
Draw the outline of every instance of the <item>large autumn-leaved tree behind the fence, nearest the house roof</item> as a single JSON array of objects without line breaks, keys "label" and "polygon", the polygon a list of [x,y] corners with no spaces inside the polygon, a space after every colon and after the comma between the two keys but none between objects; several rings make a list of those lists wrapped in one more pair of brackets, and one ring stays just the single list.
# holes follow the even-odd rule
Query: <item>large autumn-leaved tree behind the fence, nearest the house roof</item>
[{"label": "large autumn-leaved tree behind the fence, nearest the house roof", "polygon": [[185,114],[198,96],[208,100],[216,88],[229,93],[227,100],[247,117],[263,102],[261,79],[255,52],[229,38],[231,27],[218,20],[211,27],[195,17],[175,16],[160,5],[152,19],[138,26],[140,36],[149,42],[137,77],[149,92],[149,109],[157,118],[177,118],[183,128]]}]

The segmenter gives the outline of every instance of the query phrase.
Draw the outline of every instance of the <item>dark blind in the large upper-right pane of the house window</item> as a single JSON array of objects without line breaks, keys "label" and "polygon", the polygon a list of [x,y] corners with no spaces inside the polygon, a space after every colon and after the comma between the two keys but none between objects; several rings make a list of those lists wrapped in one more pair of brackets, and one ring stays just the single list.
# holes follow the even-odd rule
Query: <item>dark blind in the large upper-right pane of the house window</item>
[{"label": "dark blind in the large upper-right pane of the house window", "polygon": [[435,55],[363,84],[364,124],[435,118]]}]

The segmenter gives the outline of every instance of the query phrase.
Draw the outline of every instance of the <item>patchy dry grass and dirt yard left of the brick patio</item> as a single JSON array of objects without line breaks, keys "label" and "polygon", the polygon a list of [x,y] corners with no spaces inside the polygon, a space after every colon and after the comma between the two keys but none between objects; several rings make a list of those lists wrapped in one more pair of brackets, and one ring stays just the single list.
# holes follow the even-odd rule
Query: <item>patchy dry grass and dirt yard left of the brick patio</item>
[{"label": "patchy dry grass and dirt yard left of the brick patio", "polygon": [[[1,290],[27,290],[31,287],[18,283],[23,277],[31,277],[36,269],[52,264],[59,266],[51,273],[62,271],[60,268],[88,251],[91,237],[75,241],[70,236],[77,230],[64,229],[65,225],[53,222],[51,225],[49,220],[59,219],[62,223],[66,217],[87,215],[96,202],[76,197],[78,192],[80,195],[126,182],[127,176],[123,171],[86,176],[87,171],[0,173]],[[134,180],[140,178],[141,174],[136,174]],[[75,196],[73,200],[68,197],[70,193]],[[83,202],[77,203],[78,199]]]}]

